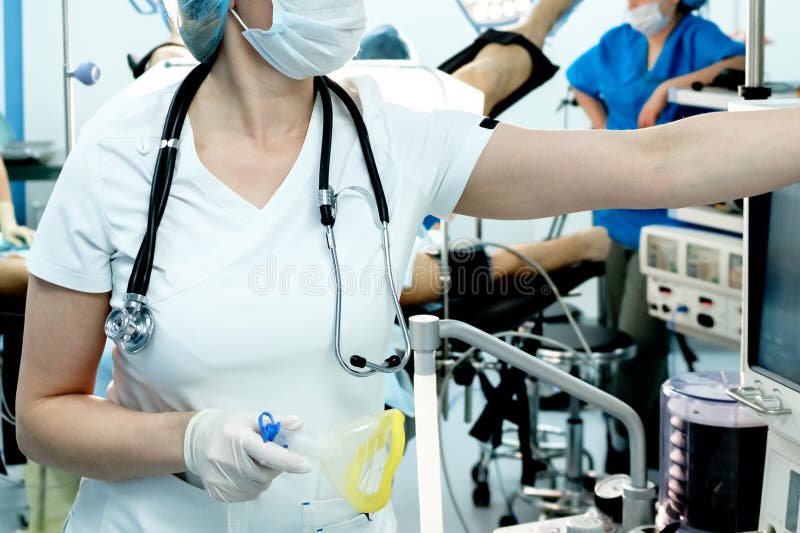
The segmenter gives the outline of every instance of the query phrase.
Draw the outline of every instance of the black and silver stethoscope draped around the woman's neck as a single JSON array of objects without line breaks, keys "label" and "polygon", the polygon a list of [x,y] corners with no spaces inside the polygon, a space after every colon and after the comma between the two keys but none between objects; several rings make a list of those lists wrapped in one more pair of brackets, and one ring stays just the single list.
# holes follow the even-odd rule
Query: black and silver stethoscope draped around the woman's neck
[{"label": "black and silver stethoscope draped around the woman's neck", "polygon": [[[181,131],[186,119],[189,106],[197,94],[200,85],[205,80],[211,70],[209,64],[201,64],[195,67],[186,79],[178,87],[175,96],[170,104],[167,119],[164,124],[161,147],[156,159],[156,167],[153,173],[153,183],[150,191],[150,207],[147,214],[147,229],[136,255],[128,289],[125,294],[123,305],[120,308],[112,309],[105,323],[105,332],[109,339],[114,341],[123,351],[136,354],[144,350],[150,343],[155,330],[155,317],[147,305],[147,289],[150,286],[150,276],[153,270],[153,260],[156,249],[156,237],[158,226],[164,217],[167,207],[172,179],[175,175],[175,165],[178,156],[178,146],[180,144]],[[400,308],[400,299],[392,273],[392,261],[389,245],[389,206],[386,202],[386,195],[381,184],[378,167],[375,164],[375,156],[367,133],[364,118],[358,110],[353,99],[336,82],[326,78],[317,77],[314,79],[314,89],[320,96],[323,110],[322,127],[322,155],[320,158],[319,170],[319,210],[320,220],[325,228],[325,244],[331,255],[333,272],[336,282],[336,308],[334,324],[334,350],[336,358],[342,368],[353,376],[369,376],[376,372],[395,373],[400,371],[411,356],[411,341],[409,339],[408,328],[406,326],[403,311]],[[352,117],[353,124],[358,134],[361,151],[364,155],[369,180],[375,196],[377,206],[377,217],[382,229],[381,240],[383,245],[385,277],[389,287],[392,304],[394,305],[395,315],[403,331],[403,342],[405,351],[402,357],[392,355],[387,357],[382,363],[376,364],[361,355],[352,355],[349,362],[342,355],[341,334],[342,334],[342,276],[339,268],[339,255],[336,248],[336,239],[333,226],[336,223],[336,201],[338,195],[330,186],[330,163],[333,142],[333,104],[330,92],[333,91],[342,101]],[[360,189],[355,188],[354,189]]]}]

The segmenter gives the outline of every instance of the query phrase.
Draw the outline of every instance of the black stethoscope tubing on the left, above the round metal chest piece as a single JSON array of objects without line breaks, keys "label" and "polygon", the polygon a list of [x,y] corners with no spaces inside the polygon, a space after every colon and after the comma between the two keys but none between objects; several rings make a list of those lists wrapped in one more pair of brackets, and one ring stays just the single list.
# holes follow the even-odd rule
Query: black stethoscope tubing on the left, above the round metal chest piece
[{"label": "black stethoscope tubing on the left, above the round metal chest piece", "polygon": [[211,71],[211,64],[203,63],[196,66],[183,80],[175,96],[172,98],[167,119],[164,122],[162,133],[162,146],[158,151],[153,183],[150,188],[150,208],[147,214],[147,229],[144,239],[136,255],[133,271],[128,280],[128,293],[146,295],[150,286],[150,274],[153,270],[155,258],[156,238],[158,226],[164,217],[167,200],[172,187],[172,178],[175,175],[175,165],[178,158],[178,146],[170,141],[180,139],[186,114],[197,91]]}]

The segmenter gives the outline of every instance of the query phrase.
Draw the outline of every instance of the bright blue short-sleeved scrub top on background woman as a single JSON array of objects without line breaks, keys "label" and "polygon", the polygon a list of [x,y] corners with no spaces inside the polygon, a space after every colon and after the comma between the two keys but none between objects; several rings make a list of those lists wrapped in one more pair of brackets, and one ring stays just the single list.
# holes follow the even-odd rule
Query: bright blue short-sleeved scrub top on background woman
[{"label": "bright blue short-sleeved scrub top on background woman", "polygon": [[[644,104],[661,83],[723,59],[743,56],[745,46],[722,33],[713,22],[686,15],[670,33],[650,71],[647,54],[647,37],[630,24],[624,24],[608,31],[597,46],[578,58],[567,71],[573,87],[606,106],[608,129],[637,129]],[[657,123],[666,124],[702,112],[667,104]],[[639,248],[639,234],[644,226],[677,224],[667,216],[666,209],[597,211],[595,223],[608,229],[612,239],[634,250]]]}]

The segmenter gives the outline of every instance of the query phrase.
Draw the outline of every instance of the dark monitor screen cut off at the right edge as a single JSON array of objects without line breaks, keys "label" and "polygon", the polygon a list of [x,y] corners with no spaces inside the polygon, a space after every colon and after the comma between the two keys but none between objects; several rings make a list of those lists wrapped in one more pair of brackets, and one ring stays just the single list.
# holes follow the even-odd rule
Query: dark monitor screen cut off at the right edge
[{"label": "dark monitor screen cut off at the right edge", "polygon": [[800,390],[800,184],[751,201],[750,364]]}]

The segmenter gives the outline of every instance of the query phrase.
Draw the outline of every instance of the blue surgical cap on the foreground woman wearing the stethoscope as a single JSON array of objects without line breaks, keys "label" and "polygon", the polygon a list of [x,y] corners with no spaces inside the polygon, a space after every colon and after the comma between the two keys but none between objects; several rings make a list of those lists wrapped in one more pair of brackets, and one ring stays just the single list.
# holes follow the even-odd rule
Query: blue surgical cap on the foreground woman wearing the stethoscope
[{"label": "blue surgical cap on the foreground woman wearing the stethoscope", "polygon": [[214,58],[230,6],[230,0],[177,0],[178,30],[186,48],[201,63]]}]

